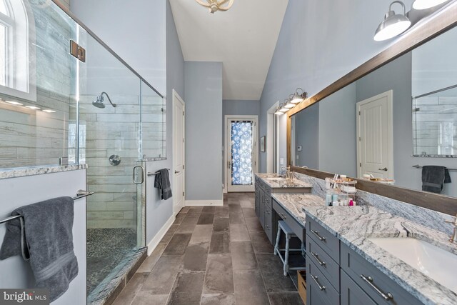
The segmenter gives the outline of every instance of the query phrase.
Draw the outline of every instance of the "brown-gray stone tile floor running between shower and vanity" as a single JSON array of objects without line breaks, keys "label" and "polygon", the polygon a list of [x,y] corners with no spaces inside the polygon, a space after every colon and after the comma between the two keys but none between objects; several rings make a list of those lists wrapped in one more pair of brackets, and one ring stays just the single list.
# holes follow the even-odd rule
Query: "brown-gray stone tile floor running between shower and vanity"
[{"label": "brown-gray stone tile floor running between shower and vanity", "polygon": [[282,273],[253,193],[230,193],[224,206],[182,209],[114,304],[303,304]]}]

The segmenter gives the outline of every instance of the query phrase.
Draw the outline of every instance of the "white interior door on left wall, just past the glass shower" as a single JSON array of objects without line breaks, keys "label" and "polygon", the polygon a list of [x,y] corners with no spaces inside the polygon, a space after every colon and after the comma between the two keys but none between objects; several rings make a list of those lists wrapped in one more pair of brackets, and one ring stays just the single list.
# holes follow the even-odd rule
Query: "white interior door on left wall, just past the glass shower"
[{"label": "white interior door on left wall, just past the glass shower", "polygon": [[173,90],[173,212],[178,214],[184,207],[185,189],[185,105],[181,96]]}]

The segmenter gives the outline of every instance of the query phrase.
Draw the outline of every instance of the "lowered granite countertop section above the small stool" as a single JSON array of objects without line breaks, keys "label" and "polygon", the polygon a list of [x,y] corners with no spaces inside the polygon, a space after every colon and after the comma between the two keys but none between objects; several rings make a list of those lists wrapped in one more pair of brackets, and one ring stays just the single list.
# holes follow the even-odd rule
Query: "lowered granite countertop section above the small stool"
[{"label": "lowered granite countertop section above the small stool", "polygon": [[303,212],[302,208],[308,206],[325,206],[326,201],[321,199],[321,197],[311,194],[271,194],[271,197],[275,199],[278,204],[283,206],[284,209],[289,211],[293,218],[298,221],[298,223],[306,223],[306,214]]}]

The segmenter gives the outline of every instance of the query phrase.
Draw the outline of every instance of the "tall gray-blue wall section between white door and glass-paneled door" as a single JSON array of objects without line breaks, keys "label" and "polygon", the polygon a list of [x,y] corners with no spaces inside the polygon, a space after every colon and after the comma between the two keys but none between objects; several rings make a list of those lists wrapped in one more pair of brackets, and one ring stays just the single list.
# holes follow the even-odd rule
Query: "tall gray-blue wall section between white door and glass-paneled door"
[{"label": "tall gray-blue wall section between white door and glass-paneled door", "polygon": [[222,63],[186,61],[186,201],[222,200]]}]

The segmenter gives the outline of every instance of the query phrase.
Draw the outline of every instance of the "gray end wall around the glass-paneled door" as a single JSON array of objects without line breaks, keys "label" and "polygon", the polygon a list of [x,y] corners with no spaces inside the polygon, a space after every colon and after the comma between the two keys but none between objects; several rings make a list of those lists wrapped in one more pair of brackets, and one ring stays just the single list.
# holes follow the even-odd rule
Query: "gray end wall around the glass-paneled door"
[{"label": "gray end wall around the glass-paneled door", "polygon": [[[224,99],[222,101],[222,146],[225,149],[225,133],[226,133],[226,121],[225,116],[240,115],[240,116],[258,116],[260,114],[260,102],[259,101],[246,101],[246,100],[233,100]],[[260,139],[257,129],[257,139]],[[257,146],[259,147],[259,146]],[[259,154],[265,154],[258,151]],[[226,174],[226,166],[224,164],[224,151],[222,151],[222,183],[224,184],[224,175]]]}]

